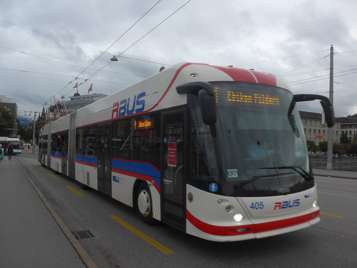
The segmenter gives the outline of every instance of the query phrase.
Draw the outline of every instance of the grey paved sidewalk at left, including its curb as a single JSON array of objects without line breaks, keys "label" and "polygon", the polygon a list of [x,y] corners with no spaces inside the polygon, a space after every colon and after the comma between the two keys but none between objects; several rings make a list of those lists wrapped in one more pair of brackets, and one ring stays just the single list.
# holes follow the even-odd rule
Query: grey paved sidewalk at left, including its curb
[{"label": "grey paved sidewalk at left, including its curb", "polygon": [[0,267],[96,267],[16,158],[0,163]]}]

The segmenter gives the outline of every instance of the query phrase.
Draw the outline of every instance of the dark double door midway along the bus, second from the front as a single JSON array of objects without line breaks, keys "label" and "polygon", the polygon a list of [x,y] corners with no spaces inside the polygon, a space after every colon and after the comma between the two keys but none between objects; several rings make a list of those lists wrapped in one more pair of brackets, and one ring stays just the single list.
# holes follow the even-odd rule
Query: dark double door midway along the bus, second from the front
[{"label": "dark double door midway along the bus, second from the front", "polygon": [[111,197],[111,125],[98,127],[98,140],[95,149],[98,157],[98,191]]}]

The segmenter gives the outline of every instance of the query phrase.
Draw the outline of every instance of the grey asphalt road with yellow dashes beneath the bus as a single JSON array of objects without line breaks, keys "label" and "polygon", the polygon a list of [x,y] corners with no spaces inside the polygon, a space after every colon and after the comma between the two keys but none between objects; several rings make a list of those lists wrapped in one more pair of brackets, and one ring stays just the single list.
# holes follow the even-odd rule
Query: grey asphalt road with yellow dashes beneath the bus
[{"label": "grey asphalt road with yellow dashes beneath the bus", "polygon": [[79,242],[99,268],[357,266],[357,180],[315,176],[321,222],[310,228],[219,243],[146,225],[132,208],[43,168],[37,154],[15,157],[71,232],[94,235]]}]

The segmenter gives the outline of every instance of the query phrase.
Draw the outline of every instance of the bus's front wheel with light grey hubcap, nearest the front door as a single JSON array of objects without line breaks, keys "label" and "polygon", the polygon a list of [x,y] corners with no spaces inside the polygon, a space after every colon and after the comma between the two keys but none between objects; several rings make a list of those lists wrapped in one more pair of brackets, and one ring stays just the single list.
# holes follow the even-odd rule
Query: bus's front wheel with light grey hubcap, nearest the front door
[{"label": "bus's front wheel with light grey hubcap, nearest the front door", "polygon": [[137,211],[143,222],[152,225],[155,223],[154,217],[152,217],[152,200],[149,187],[146,182],[141,183],[137,191]]}]

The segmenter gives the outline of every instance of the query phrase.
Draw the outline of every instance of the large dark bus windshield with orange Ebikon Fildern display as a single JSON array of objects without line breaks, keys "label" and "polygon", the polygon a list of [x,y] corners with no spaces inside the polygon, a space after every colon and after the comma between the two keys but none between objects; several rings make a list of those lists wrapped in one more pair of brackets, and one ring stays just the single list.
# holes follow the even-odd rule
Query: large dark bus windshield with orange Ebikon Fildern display
[{"label": "large dark bus windshield with orange Ebikon Fildern display", "polygon": [[197,97],[191,110],[191,183],[228,196],[272,196],[313,186],[300,115],[288,115],[292,93],[276,86],[211,82],[215,88],[216,137],[203,124]]}]

